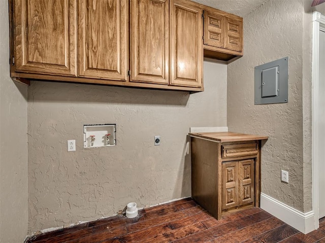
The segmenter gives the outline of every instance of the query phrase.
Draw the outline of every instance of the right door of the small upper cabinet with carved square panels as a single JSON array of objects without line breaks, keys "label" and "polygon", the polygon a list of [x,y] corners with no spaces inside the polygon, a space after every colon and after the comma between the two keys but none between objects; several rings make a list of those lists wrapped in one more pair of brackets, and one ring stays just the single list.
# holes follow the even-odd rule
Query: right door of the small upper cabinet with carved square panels
[{"label": "right door of the small upper cabinet with carved square panels", "polygon": [[243,51],[243,22],[225,18],[225,48]]}]

